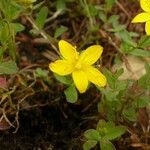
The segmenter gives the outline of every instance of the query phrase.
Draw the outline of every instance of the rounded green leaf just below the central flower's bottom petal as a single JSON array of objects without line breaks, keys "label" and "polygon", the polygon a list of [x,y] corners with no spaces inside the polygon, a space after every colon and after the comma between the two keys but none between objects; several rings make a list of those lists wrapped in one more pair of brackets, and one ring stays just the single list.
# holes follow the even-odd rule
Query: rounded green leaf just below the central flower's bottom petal
[{"label": "rounded green leaf just below the central flower's bottom petal", "polygon": [[70,85],[65,91],[66,100],[69,103],[75,103],[78,100],[78,93],[74,85]]}]

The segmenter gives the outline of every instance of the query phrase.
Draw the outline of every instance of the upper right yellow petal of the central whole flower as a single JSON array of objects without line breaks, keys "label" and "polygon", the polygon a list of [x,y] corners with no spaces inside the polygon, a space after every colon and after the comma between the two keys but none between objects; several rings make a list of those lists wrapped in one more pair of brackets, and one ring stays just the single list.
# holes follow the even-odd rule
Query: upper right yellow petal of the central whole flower
[{"label": "upper right yellow petal of the central whole flower", "polygon": [[98,60],[98,58],[100,58],[102,52],[103,52],[102,46],[100,45],[90,46],[81,53],[79,61],[87,65],[92,65]]}]

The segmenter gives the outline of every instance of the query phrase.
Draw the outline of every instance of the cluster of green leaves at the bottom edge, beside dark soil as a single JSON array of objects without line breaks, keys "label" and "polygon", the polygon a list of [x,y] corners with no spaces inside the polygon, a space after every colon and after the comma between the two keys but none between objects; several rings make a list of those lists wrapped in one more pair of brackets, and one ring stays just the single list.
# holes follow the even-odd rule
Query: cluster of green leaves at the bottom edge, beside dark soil
[{"label": "cluster of green leaves at the bottom edge, beside dark soil", "polygon": [[125,131],[126,128],[123,126],[115,126],[112,122],[100,120],[97,123],[96,129],[89,129],[84,132],[84,136],[87,141],[84,143],[83,149],[90,150],[99,143],[101,150],[115,150],[111,140],[120,138]]}]

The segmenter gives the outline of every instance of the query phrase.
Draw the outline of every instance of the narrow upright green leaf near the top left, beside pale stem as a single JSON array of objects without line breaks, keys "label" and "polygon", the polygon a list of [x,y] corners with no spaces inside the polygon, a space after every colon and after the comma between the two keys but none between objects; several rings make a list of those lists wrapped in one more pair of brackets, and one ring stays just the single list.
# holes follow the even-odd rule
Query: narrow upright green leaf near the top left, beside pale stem
[{"label": "narrow upright green leaf near the top left, beside pale stem", "polygon": [[38,15],[36,16],[36,24],[37,26],[42,29],[44,27],[44,24],[46,22],[46,18],[48,15],[48,8],[46,6],[42,7]]}]

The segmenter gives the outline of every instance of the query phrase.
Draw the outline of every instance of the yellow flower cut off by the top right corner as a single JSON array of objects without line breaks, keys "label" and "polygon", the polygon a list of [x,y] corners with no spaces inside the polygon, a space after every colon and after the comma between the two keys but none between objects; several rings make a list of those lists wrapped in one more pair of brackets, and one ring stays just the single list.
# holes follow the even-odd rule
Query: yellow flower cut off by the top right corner
[{"label": "yellow flower cut off by the top right corner", "polygon": [[135,16],[132,23],[146,22],[145,31],[147,35],[150,35],[150,0],[140,0],[140,5],[144,12]]}]

